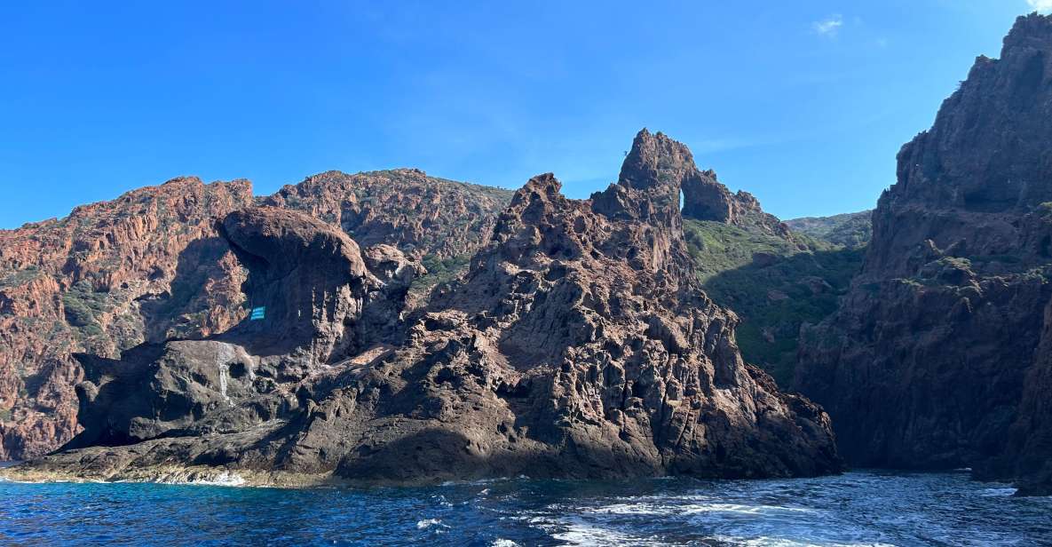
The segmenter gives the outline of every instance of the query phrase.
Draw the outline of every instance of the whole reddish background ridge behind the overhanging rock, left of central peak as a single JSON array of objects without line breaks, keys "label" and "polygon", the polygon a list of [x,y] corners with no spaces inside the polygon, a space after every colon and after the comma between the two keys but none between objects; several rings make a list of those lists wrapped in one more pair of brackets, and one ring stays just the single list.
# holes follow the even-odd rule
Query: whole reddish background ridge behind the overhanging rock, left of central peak
[{"label": "whole reddish background ridge behind the overhanging rock, left of central peak", "polygon": [[[422,260],[431,271],[418,280],[424,293],[465,267],[510,197],[396,169],[329,171],[257,201]],[[0,230],[0,460],[44,453],[76,433],[82,372],[73,352],[117,358],[245,317],[247,270],[217,222],[254,200],[247,181],[183,178]]]}]

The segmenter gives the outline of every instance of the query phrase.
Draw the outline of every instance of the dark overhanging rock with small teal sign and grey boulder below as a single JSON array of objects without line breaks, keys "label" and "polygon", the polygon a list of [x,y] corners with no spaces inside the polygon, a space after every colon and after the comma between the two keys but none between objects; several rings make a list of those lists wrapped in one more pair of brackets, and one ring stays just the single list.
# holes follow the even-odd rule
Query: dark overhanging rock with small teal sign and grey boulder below
[{"label": "dark overhanging rock with small teal sign and grey boulder below", "polygon": [[[247,293],[262,313],[205,340],[144,344],[121,360],[77,354],[87,380],[78,387],[83,431],[68,447],[256,427],[298,408],[290,382],[397,341],[390,325],[399,318],[384,313],[417,271],[404,264],[408,274],[387,276],[391,262],[405,263],[397,249],[367,261],[339,228],[272,207],[234,211],[221,232],[247,268]],[[250,405],[235,404],[248,398]]]}]

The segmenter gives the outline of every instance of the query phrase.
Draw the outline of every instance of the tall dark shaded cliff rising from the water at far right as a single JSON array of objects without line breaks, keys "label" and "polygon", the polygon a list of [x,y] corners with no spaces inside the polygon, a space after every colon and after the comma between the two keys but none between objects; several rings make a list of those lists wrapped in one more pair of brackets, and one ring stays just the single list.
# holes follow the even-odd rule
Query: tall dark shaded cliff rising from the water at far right
[{"label": "tall dark shaded cliff rising from the water at far right", "polygon": [[1047,423],[1019,403],[1047,354],[1050,120],[1052,19],[1032,15],[899,153],[864,268],[801,353],[851,462],[1011,477],[1012,424]]}]

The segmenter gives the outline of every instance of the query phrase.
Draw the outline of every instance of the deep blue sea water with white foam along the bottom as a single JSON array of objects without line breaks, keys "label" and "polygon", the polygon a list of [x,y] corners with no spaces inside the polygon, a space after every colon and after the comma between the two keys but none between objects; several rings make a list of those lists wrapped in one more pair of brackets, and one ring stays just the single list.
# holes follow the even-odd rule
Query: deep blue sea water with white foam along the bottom
[{"label": "deep blue sea water with white foam along the bottom", "polygon": [[277,489],[0,483],[2,545],[1052,545],[1052,499],[966,473]]}]

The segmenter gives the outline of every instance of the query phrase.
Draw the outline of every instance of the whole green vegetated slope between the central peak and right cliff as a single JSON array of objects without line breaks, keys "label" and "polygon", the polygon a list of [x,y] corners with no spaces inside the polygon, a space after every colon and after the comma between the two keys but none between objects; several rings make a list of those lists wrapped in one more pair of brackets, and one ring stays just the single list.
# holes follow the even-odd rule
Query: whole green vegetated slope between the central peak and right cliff
[{"label": "whole green vegetated slope between the central peak and right cliff", "polygon": [[705,290],[742,318],[737,343],[745,360],[789,385],[801,325],[835,310],[864,247],[693,219],[685,219],[684,229]]}]

